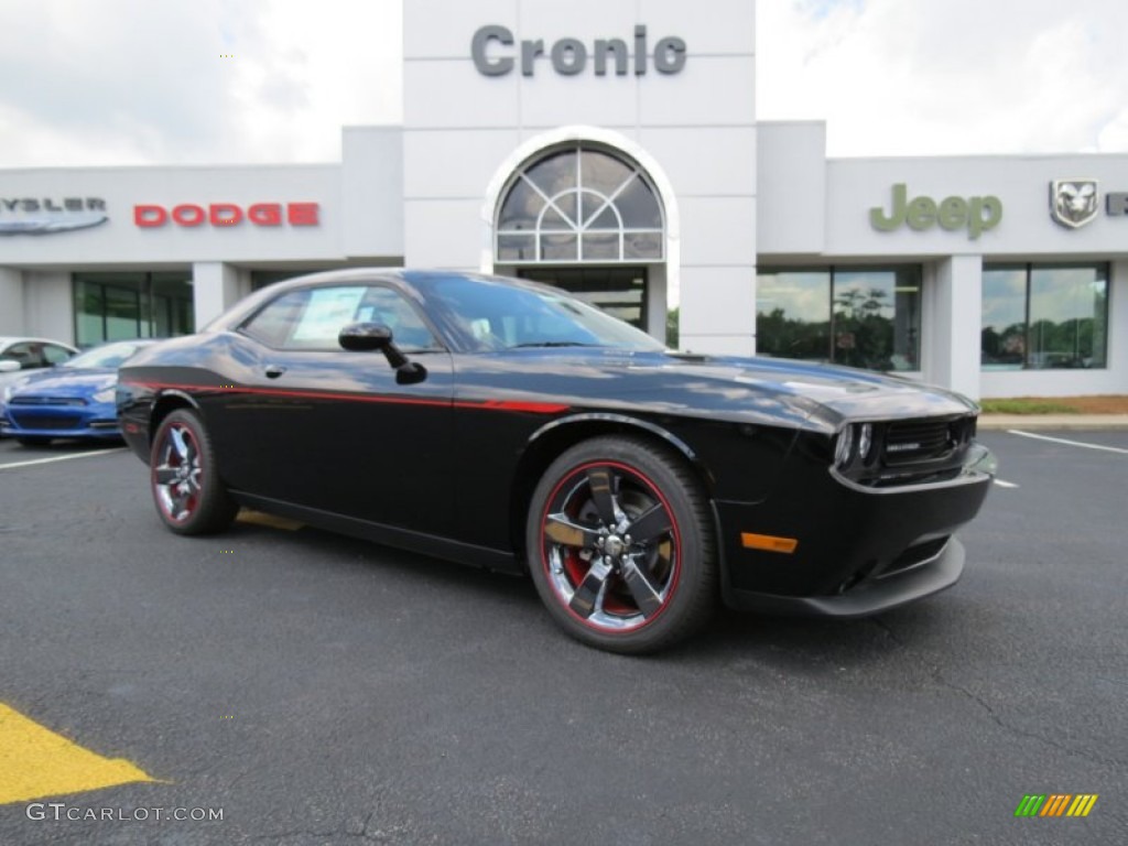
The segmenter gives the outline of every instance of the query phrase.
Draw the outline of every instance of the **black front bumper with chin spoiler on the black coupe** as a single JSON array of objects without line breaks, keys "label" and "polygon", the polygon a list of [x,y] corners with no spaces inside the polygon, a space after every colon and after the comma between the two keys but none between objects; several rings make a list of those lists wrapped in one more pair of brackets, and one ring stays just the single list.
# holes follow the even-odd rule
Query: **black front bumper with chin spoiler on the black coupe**
[{"label": "black front bumper with chin spoiler on the black coupe", "polygon": [[[953,479],[865,488],[822,468],[791,473],[763,503],[717,502],[722,591],[740,609],[860,617],[954,584],[994,457],[977,448]],[[795,539],[793,553],[746,548],[744,532]]]}]

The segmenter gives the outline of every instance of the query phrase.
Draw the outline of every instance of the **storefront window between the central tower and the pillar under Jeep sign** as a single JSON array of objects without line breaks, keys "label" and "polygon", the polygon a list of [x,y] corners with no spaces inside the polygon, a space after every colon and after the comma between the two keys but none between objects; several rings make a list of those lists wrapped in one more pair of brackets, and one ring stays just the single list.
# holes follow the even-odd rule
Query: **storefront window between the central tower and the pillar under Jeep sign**
[{"label": "storefront window between the central tower and the pillar under Jeep sign", "polygon": [[920,369],[920,268],[761,270],[761,355],[866,370]]}]

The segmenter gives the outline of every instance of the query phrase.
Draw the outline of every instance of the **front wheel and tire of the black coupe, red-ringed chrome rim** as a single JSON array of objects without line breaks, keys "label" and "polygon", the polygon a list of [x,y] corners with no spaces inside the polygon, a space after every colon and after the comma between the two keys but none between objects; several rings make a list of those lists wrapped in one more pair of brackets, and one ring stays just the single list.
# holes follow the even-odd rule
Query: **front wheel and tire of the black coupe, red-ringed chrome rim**
[{"label": "front wheel and tire of the black coupe, red-ringed chrome rim", "polygon": [[716,607],[710,514],[676,453],[638,438],[593,438],[553,461],[532,494],[529,573],[576,640],[656,652],[698,631]]}]

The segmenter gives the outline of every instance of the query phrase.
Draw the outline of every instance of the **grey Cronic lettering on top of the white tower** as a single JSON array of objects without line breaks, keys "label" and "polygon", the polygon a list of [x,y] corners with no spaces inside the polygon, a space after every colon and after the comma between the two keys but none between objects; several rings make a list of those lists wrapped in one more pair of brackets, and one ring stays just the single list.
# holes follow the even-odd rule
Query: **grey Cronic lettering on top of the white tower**
[{"label": "grey Cronic lettering on top of the white tower", "polygon": [[[597,77],[606,77],[609,67],[617,77],[627,76],[627,68],[631,65],[636,77],[646,72],[646,27],[641,24],[635,27],[633,55],[622,38],[597,38],[590,52],[588,45],[579,38],[561,38],[548,47],[547,53],[543,38],[522,41],[517,50],[512,49],[515,43],[513,33],[503,26],[491,24],[481,27],[470,39],[470,56],[478,73],[503,77],[517,64],[515,55],[520,55],[523,77],[531,77],[536,72],[537,59],[546,55],[553,70],[565,77],[583,73],[589,56]],[[668,36],[654,45],[654,69],[659,73],[677,73],[685,67],[684,39]]]}]

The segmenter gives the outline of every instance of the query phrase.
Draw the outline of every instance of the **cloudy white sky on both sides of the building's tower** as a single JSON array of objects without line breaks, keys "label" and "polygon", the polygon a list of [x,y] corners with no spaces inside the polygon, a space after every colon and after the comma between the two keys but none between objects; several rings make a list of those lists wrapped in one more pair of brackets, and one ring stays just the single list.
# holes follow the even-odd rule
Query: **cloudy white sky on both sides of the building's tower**
[{"label": "cloudy white sky on both sides of the building's tower", "polygon": [[[337,160],[402,120],[402,2],[0,0],[0,168]],[[1123,0],[759,0],[757,111],[831,156],[1128,152],[1125,32]]]}]

